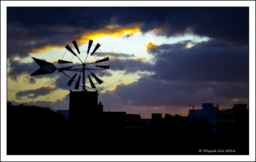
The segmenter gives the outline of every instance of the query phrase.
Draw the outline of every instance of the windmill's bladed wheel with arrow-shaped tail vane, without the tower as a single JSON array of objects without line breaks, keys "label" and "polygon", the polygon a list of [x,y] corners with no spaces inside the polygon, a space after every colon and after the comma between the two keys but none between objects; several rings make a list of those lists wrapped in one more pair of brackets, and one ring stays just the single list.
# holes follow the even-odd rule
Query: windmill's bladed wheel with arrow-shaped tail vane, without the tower
[{"label": "windmill's bladed wheel with arrow-shaped tail vane, without the tower", "polygon": [[[34,57],[32,57],[32,59],[34,59],[34,61],[40,66],[40,68],[38,70],[36,70],[33,74],[31,74],[30,76],[36,76],[36,75],[43,75],[43,74],[51,74],[53,73],[55,70],[59,70],[59,72],[62,72],[64,74],[64,76],[67,78],[68,80],[68,86],[71,86],[71,84],[73,84],[73,82],[75,82],[75,89],[78,90],[80,85],[80,79],[81,79],[81,73],[82,73],[82,80],[83,80],[83,85],[81,86],[83,88],[83,91],[85,91],[85,78],[89,79],[89,82],[91,84],[92,88],[96,88],[95,84],[98,82],[99,84],[103,83],[103,81],[101,80],[101,78],[103,77],[103,75],[105,74],[105,70],[109,69],[109,66],[107,66],[106,61],[109,61],[109,57],[105,58],[103,52],[99,49],[99,47],[101,46],[99,43],[97,43],[97,45],[95,46],[95,48],[93,49],[93,52],[90,53],[90,49],[91,46],[93,45],[93,40],[89,40],[89,43],[76,43],[76,40],[74,40],[73,45],[70,47],[69,45],[66,45],[65,48],[67,49],[67,51],[69,52],[65,52],[62,59],[58,60],[58,63],[61,64],[61,68],[57,68],[53,65],[53,63],[49,63],[47,61],[44,60],[40,60],[40,59],[36,59]],[[88,45],[87,51],[79,51],[78,48],[78,44],[82,45]],[[73,51],[73,49],[76,49],[77,53],[75,53]],[[95,55],[93,55],[97,49],[99,49],[101,51],[101,53],[97,53],[97,56],[100,56],[100,59],[96,59]],[[89,55],[90,53],[90,55]],[[66,54],[66,55],[65,55]],[[72,55],[71,55],[72,54]],[[79,57],[84,57],[84,61],[82,61]],[[81,54],[81,55],[80,55]],[[91,57],[91,58],[88,58]],[[71,58],[71,61],[65,61],[63,58]],[[75,58],[74,58],[75,57]],[[76,59],[75,61],[78,61],[79,63],[73,63],[72,59]],[[88,63],[86,63],[86,60],[88,61]],[[81,63],[82,64],[81,64]],[[62,67],[62,64],[66,65],[66,64],[70,64],[70,66],[66,66],[66,67]],[[95,65],[96,64],[96,65]],[[95,65],[95,67],[91,67],[88,68],[91,65]],[[76,66],[80,66],[80,68],[74,68]],[[88,66],[88,67],[86,67]],[[99,71],[99,70],[104,70],[104,72],[102,73],[101,78],[98,78],[95,75],[95,72]],[[72,78],[70,77],[70,75],[72,74],[66,74],[66,72],[64,73],[64,71],[67,72],[73,72],[74,76],[72,76]],[[74,72],[80,72],[79,76],[78,73],[74,73]],[[86,73],[87,72],[87,76]],[[94,83],[93,80],[91,79],[91,76],[93,76],[93,78],[96,80],[96,82]],[[75,78],[78,77],[77,81],[75,81]]]}]

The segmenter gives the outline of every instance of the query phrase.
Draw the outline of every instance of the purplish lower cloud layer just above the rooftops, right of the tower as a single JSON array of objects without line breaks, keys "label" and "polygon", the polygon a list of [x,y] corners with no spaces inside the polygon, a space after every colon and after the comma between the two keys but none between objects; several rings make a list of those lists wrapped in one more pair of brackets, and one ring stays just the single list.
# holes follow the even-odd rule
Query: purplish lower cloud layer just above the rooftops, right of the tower
[{"label": "purplish lower cloud layer just above the rooftops, right of the tower", "polygon": [[137,82],[119,84],[115,89],[99,94],[99,101],[105,111],[127,111],[130,108],[131,113],[145,115],[149,109],[161,107],[170,113],[178,112],[180,108],[179,113],[186,115],[181,108],[188,107],[189,103],[198,108],[202,103],[210,102],[232,108],[234,103],[230,101],[234,98],[248,103],[248,88],[248,84],[242,83],[166,82],[142,77]]}]

